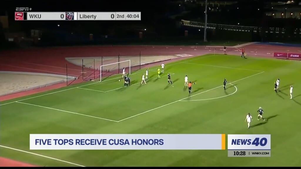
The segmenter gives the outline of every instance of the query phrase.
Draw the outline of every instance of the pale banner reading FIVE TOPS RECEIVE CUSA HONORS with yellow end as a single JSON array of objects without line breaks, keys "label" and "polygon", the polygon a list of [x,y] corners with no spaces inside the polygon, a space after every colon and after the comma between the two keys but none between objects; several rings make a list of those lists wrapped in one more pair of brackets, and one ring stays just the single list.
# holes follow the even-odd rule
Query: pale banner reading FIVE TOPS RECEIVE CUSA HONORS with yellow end
[{"label": "pale banner reading FIVE TOPS RECEIVE CUSA HONORS with yellow end", "polygon": [[225,150],[225,134],[30,134],[31,150]]}]

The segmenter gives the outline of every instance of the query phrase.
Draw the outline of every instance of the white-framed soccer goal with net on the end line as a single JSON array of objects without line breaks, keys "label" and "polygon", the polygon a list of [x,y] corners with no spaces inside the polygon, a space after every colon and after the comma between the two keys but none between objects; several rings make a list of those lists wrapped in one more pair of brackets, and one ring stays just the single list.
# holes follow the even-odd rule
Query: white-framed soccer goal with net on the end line
[{"label": "white-framed soccer goal with net on the end line", "polygon": [[[116,76],[116,79],[119,78],[117,75],[122,75],[123,68],[126,70],[126,74],[131,74],[131,60],[125,60],[116,63],[110,63],[100,66],[99,78],[96,78],[93,81],[102,82],[106,79],[112,79],[111,76]],[[114,79],[114,78],[113,78]]]}]

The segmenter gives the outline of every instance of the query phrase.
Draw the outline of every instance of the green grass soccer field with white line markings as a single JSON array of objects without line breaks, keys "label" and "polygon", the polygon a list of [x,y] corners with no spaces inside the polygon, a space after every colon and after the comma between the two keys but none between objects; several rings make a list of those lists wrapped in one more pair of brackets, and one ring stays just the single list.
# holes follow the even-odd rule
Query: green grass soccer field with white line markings
[{"label": "green grass soccer field with white line markings", "polygon": [[[1,156],[39,166],[301,166],[301,62],[208,54],[165,66],[160,79],[151,67],[143,85],[145,69],[132,72],[129,87],[116,75],[1,102]],[[190,96],[185,75],[196,82]],[[257,121],[259,106],[266,122]],[[266,158],[227,157],[227,150],[29,150],[29,134],[271,134],[272,150]]]}]

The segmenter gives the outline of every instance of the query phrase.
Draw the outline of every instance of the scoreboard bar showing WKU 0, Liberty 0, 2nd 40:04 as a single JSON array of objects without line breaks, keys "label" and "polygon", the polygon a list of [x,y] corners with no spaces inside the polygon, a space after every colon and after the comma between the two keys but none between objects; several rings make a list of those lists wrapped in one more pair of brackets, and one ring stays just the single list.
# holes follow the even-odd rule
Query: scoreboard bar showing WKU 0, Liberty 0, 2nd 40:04
[{"label": "scoreboard bar showing WKU 0, Liberty 0, 2nd 40:04", "polygon": [[141,12],[15,12],[15,20],[141,20]]}]

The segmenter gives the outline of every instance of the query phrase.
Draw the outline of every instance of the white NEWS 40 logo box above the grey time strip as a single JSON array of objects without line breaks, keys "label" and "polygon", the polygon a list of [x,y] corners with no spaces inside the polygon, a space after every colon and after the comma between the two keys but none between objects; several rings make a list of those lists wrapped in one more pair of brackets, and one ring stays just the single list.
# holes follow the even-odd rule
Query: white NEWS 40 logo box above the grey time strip
[{"label": "white NEWS 40 logo box above the grey time strip", "polygon": [[229,134],[228,150],[271,150],[271,135]]}]

